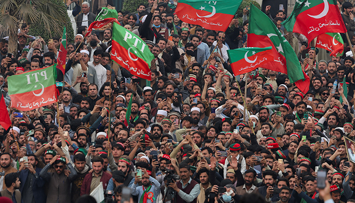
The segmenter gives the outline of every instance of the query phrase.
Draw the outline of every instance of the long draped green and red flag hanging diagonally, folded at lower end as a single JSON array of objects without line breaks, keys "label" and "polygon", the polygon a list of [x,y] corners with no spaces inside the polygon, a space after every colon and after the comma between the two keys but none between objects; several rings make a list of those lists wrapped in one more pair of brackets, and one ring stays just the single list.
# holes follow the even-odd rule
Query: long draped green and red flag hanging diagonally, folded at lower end
[{"label": "long draped green and red flag hanging diagonally, folded at lower end", "polygon": [[251,5],[248,26],[248,47],[272,47],[273,60],[264,64],[265,69],[281,72],[289,76],[290,82],[303,92],[309,90],[309,77],[304,73],[295,51],[281,35],[270,18]]}]

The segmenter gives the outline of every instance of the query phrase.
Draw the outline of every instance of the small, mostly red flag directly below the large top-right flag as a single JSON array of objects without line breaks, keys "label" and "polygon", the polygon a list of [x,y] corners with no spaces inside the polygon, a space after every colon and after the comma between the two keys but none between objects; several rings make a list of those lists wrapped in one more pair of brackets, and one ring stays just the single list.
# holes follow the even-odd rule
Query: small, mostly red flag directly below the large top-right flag
[{"label": "small, mostly red flag directly below the large top-right flag", "polygon": [[315,47],[330,51],[330,55],[334,57],[344,54],[344,41],[338,32],[326,32],[318,36]]}]

